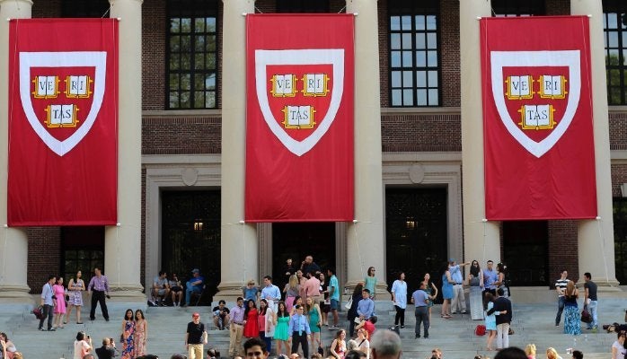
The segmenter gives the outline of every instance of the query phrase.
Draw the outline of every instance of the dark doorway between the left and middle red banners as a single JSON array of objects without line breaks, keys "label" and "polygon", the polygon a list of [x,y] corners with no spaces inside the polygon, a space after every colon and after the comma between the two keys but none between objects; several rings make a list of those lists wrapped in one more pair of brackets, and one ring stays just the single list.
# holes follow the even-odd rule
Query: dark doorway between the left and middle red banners
[{"label": "dark doorway between the left and middle red banners", "polygon": [[207,290],[201,303],[210,304],[220,282],[220,191],[163,191],[162,269],[181,282],[199,268]]}]

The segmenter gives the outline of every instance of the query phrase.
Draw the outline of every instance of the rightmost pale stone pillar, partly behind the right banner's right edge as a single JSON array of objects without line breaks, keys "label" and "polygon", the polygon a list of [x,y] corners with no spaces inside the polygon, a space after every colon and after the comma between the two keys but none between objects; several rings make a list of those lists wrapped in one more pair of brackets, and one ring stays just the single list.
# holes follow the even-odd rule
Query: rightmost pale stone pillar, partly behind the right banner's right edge
[{"label": "rightmost pale stone pillar, partly behind the right banner's right edge", "polygon": [[[614,218],[610,135],[605,83],[605,43],[601,0],[570,0],[570,13],[590,15],[590,64],[592,68],[592,118],[595,136],[597,220],[578,225],[579,278],[590,272],[597,285],[618,285],[614,267]],[[605,288],[607,289],[607,288]]]}]

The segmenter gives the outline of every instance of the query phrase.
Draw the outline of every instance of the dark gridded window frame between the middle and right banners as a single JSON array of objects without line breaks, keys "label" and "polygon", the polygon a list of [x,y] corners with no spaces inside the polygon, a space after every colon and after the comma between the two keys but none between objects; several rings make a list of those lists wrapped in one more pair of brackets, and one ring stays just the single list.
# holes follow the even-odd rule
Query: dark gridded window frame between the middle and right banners
[{"label": "dark gridded window frame between the middle and right banners", "polygon": [[[398,17],[398,29],[395,29],[393,18]],[[410,18],[410,28],[406,29],[403,25],[403,18]],[[422,17],[424,22],[422,29],[418,29],[418,19]],[[429,22],[429,18],[433,18],[433,22]],[[388,2],[388,83],[389,83],[389,106],[391,108],[434,108],[442,106],[442,56],[441,56],[441,26],[440,26],[440,9],[437,0],[428,0],[428,2],[412,2],[407,0],[396,0]],[[429,28],[432,23],[434,28]],[[398,36],[399,47],[395,48],[393,44],[394,35]],[[405,47],[405,37],[409,34],[409,47]],[[430,47],[430,34],[435,34],[434,47]],[[422,37],[422,46],[418,47],[418,40]],[[394,52],[400,52],[400,66],[393,66]],[[409,59],[404,57],[404,52],[411,53],[411,66],[403,66],[403,63]],[[429,66],[429,53],[434,52],[436,55],[435,66]],[[419,55],[424,55],[424,65],[418,66]],[[419,78],[424,74],[424,77]],[[400,77],[397,77],[400,76]],[[431,83],[432,76],[437,77],[435,83]],[[410,82],[406,85],[406,82]],[[400,86],[394,86],[399,83]],[[400,91],[400,103],[396,103],[395,93]],[[435,91],[435,92],[434,92]],[[406,102],[410,96],[411,102]],[[422,93],[422,94],[421,94]],[[436,97],[434,102],[431,101]]]}]

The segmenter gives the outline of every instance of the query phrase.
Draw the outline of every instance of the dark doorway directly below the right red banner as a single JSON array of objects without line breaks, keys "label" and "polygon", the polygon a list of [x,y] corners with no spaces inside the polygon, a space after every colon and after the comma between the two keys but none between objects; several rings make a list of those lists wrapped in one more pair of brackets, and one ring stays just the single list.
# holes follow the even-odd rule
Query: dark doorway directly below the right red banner
[{"label": "dark doorway directly below the right red banner", "polygon": [[551,285],[548,243],[547,221],[503,222],[503,258],[510,285]]}]

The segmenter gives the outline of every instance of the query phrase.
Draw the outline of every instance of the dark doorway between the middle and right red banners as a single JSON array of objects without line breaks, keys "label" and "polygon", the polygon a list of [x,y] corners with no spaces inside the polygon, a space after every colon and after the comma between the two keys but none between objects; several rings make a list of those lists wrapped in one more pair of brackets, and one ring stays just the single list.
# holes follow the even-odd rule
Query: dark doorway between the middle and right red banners
[{"label": "dark doorway between the middle and right red banners", "polygon": [[[385,279],[390,287],[404,272],[410,295],[425,273],[441,288],[448,241],[446,207],[446,188],[385,189]],[[441,293],[438,296],[441,302]]]}]

